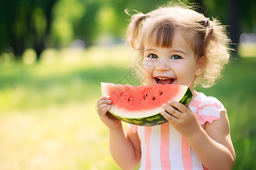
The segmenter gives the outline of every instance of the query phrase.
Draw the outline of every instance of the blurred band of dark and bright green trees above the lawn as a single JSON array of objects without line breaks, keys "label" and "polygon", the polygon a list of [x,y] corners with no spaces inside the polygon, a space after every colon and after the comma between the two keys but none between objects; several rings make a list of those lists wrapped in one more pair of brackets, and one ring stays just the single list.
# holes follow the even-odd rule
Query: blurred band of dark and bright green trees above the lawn
[{"label": "blurred band of dark and bright green trees above the lawn", "polygon": [[[167,0],[9,0],[0,2],[0,54],[14,53],[20,59],[27,48],[37,59],[46,48],[71,45],[81,39],[86,45],[113,44],[125,39],[127,16],[124,10],[148,12]],[[177,2],[172,1],[172,2]],[[183,1],[185,2],[185,1]],[[234,43],[241,32],[256,28],[256,1],[200,0],[200,12],[217,17],[229,27]]]}]

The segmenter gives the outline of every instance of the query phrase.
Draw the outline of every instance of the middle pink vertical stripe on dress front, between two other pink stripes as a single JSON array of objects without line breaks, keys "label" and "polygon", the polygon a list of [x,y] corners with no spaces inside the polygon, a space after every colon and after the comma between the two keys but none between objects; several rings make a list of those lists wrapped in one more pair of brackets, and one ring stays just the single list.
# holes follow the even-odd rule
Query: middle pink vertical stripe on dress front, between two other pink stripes
[{"label": "middle pink vertical stripe on dress front, between two other pink stripes", "polygon": [[170,124],[161,125],[160,160],[162,169],[170,168],[169,147],[170,147]]}]

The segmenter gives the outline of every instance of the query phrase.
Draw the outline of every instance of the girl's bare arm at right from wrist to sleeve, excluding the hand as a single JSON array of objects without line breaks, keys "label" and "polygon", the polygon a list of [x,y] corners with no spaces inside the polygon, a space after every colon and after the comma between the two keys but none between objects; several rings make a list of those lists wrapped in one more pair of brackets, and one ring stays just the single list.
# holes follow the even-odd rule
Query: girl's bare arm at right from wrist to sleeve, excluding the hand
[{"label": "girl's bare arm at right from wrist to sleeve, excluding the hand", "polygon": [[[225,112],[220,120],[207,122],[205,130],[200,128],[188,138],[193,150],[208,169],[232,169],[235,153],[229,133],[229,121]],[[207,155],[207,156],[205,156]]]}]

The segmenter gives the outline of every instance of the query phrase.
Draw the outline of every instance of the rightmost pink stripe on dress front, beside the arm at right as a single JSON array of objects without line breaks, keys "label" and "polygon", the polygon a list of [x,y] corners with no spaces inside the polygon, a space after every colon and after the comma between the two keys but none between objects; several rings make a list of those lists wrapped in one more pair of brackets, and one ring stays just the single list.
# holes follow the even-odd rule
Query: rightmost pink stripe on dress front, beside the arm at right
[{"label": "rightmost pink stripe on dress front, beside the arm at right", "polygon": [[182,156],[184,169],[192,169],[190,146],[187,139],[183,136],[181,136],[181,156]]}]

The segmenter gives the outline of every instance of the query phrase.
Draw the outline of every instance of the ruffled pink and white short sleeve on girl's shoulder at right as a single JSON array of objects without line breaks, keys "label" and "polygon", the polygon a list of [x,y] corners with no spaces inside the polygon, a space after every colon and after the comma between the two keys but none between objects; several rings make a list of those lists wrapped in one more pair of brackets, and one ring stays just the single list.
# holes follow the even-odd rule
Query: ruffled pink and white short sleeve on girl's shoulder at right
[{"label": "ruffled pink and white short sleeve on girl's shoulder at right", "polygon": [[214,120],[219,120],[222,111],[226,113],[224,105],[218,99],[207,97],[202,93],[195,97],[189,107],[196,113],[200,125],[203,125],[207,121],[212,123]]}]

